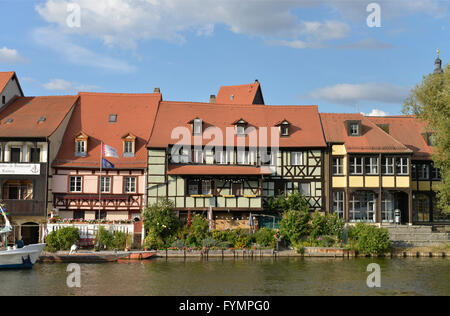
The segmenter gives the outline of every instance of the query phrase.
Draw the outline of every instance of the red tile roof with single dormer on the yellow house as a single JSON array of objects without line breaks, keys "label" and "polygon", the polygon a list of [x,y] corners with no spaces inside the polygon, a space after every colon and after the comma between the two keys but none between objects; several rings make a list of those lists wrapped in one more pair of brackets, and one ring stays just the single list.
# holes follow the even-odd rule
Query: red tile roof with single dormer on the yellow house
[{"label": "red tile roof with single dormer on the yellow house", "polygon": [[[327,143],[344,144],[349,153],[412,153],[362,114],[321,113]],[[361,121],[361,136],[349,136],[346,121]]]}]

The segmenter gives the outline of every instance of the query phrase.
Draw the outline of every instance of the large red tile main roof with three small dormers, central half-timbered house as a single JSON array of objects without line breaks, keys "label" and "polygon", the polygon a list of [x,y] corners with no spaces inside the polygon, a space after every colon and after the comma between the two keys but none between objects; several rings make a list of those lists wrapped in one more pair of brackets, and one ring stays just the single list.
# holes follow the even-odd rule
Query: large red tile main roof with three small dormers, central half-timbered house
[{"label": "large red tile main roof with three small dormers, central half-timbered house", "polygon": [[[288,120],[290,135],[279,137],[280,147],[325,147],[322,127],[319,120],[317,106],[261,106],[261,105],[231,105],[226,106],[211,103],[190,103],[190,102],[170,102],[163,101],[160,104],[158,114],[150,137],[148,147],[166,148],[168,145],[180,143],[178,138],[172,139],[172,131],[175,128],[185,130],[190,136],[184,139],[184,144],[194,144],[194,141],[201,141],[203,145],[210,144],[211,140],[200,139],[199,136],[192,136],[193,119],[200,118],[203,121],[203,131],[208,127],[220,129],[225,139],[227,128],[233,133],[232,137],[226,138],[226,141],[234,141],[234,146],[249,146],[250,135],[245,137],[235,135],[235,126],[233,122],[243,119],[248,122],[247,127],[254,127],[256,134],[267,128],[267,146],[276,145],[271,143],[270,130],[282,120]],[[176,130],[175,130],[176,131]],[[219,140],[219,139],[217,139]],[[242,142],[242,143],[241,143]],[[215,143],[217,145],[225,145]],[[231,146],[231,145],[230,145]],[[265,143],[259,143],[259,146],[265,147]]]}]

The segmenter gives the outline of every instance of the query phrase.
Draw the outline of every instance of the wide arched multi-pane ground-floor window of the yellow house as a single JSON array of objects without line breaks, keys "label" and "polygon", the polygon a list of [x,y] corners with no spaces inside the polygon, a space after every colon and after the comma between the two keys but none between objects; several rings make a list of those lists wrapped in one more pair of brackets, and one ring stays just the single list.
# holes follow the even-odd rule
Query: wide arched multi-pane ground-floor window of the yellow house
[{"label": "wide arched multi-pane ground-floor window of the yellow house", "polygon": [[369,191],[357,191],[350,195],[350,222],[375,222],[377,200]]}]

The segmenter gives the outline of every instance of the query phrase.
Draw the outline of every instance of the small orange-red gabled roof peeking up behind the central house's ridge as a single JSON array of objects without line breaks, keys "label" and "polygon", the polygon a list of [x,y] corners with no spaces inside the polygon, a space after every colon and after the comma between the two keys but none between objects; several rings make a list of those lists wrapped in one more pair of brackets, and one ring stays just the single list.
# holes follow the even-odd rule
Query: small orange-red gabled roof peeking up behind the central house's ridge
[{"label": "small orange-red gabled roof peeking up behind the central house's ridge", "polygon": [[261,86],[256,80],[254,83],[222,86],[216,97],[217,104],[264,104]]}]

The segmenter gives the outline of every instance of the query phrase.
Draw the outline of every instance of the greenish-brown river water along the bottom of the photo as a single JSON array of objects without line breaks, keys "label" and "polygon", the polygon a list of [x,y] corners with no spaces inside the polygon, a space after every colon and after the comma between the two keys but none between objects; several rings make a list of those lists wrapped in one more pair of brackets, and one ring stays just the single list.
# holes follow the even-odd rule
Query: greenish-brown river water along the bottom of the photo
[{"label": "greenish-brown river water along the bottom of the photo", "polygon": [[[367,265],[381,267],[369,288]],[[0,271],[0,295],[450,295],[448,258],[154,259],[82,264],[69,288],[67,264]]]}]

